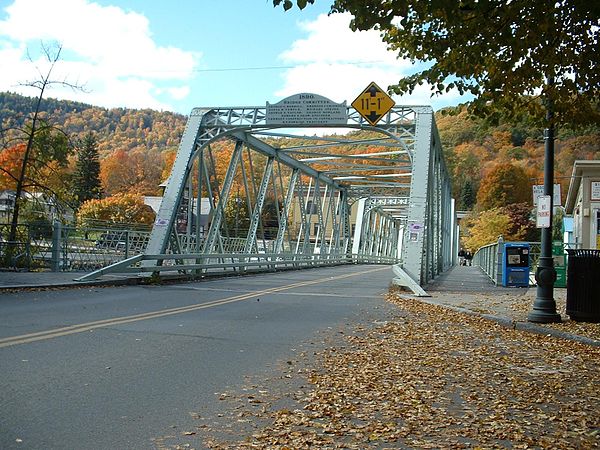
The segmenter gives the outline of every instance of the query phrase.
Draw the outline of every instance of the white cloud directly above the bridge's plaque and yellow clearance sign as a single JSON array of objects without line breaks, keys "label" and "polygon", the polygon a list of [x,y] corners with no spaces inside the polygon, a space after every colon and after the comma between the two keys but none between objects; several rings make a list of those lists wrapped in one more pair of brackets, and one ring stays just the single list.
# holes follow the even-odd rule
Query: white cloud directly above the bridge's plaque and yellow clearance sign
[{"label": "white cloud directly above the bridge's plaque and yellow clearance sign", "polygon": [[[276,96],[313,92],[335,102],[350,103],[372,81],[386,89],[419,70],[388,51],[378,31],[350,30],[350,19],[349,14],[321,14],[312,22],[299,24],[307,37],[295,41],[280,55],[284,63],[295,67],[285,72],[284,85]],[[397,104],[432,105],[435,109],[465,101],[458,92],[431,97],[427,85],[418,86],[411,95],[395,96],[394,100]]]}]

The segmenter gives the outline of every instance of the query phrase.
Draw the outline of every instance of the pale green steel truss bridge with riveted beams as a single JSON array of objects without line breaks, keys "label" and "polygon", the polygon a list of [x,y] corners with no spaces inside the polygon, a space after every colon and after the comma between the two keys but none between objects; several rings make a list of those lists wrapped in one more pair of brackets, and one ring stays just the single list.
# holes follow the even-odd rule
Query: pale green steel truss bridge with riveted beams
[{"label": "pale green steel truss bridge with riveted beams", "polygon": [[80,280],[382,263],[423,285],[444,272],[455,211],[433,110],[394,106],[371,126],[333,105],[341,120],[192,110],[144,254]]}]

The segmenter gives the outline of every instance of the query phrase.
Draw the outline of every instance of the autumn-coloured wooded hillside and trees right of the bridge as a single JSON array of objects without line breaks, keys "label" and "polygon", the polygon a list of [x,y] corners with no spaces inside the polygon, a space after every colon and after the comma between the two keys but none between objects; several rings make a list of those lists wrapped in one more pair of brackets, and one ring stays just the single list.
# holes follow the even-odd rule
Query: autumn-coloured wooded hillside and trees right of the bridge
[{"label": "autumn-coloured wooded hillside and trees right of the bridge", "polygon": [[[467,117],[464,109],[438,112],[436,122],[459,209],[531,203],[531,185],[543,183],[542,129],[526,120],[490,125]],[[600,124],[558,130],[554,176],[561,184],[563,202],[577,159],[600,159]]]}]

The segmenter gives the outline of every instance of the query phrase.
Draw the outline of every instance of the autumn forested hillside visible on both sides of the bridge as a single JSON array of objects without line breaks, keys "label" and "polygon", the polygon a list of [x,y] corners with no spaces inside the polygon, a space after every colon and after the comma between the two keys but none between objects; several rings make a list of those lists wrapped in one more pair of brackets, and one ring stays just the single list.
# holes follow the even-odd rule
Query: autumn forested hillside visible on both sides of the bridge
[{"label": "autumn forested hillside visible on both sides of the bridge", "polygon": [[[34,106],[33,98],[0,93],[2,129],[22,125]],[[186,123],[185,116],[171,112],[106,109],[50,98],[42,101],[42,111],[43,117],[74,142],[93,132],[104,196],[157,193],[158,184],[168,175]],[[462,109],[438,112],[436,122],[459,209],[531,202],[531,185],[541,184],[542,180],[543,130],[526,121],[490,125],[467,117]],[[0,163],[5,165],[8,150],[2,150],[4,158],[0,154]],[[576,159],[600,159],[600,125],[558,130],[555,175],[562,184],[563,199]],[[0,184],[0,189],[10,188],[10,180],[2,182],[0,177]]]}]

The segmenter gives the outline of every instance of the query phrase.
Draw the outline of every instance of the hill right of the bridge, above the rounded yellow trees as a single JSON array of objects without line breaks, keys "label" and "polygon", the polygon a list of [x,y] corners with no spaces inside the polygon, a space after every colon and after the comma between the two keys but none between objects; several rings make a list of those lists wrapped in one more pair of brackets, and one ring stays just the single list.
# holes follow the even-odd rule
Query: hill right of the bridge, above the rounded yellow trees
[{"label": "hill right of the bridge, above the rounded yellow trees", "polygon": [[[464,108],[436,114],[436,123],[452,178],[458,209],[472,209],[482,181],[499,164],[524,169],[530,185],[543,183],[544,130],[523,120],[489,124],[467,116]],[[454,114],[447,114],[452,112]],[[557,130],[554,145],[554,182],[561,184],[563,201],[571,181],[573,162],[600,159],[600,124],[583,129]],[[533,194],[531,194],[533,197]]]}]

